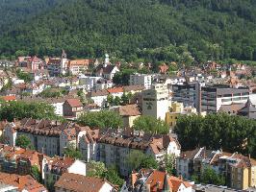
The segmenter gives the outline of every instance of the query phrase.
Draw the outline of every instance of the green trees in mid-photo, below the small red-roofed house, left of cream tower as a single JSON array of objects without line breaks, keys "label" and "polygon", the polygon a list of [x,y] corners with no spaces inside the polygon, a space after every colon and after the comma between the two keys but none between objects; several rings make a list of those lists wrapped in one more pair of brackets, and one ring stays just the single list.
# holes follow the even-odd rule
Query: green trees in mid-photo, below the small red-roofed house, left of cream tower
[{"label": "green trees in mid-photo, below the small red-roofed house, left of cream tower", "polygon": [[117,129],[122,126],[122,119],[112,110],[101,110],[87,112],[78,118],[81,125],[90,126],[91,128],[112,128]]}]

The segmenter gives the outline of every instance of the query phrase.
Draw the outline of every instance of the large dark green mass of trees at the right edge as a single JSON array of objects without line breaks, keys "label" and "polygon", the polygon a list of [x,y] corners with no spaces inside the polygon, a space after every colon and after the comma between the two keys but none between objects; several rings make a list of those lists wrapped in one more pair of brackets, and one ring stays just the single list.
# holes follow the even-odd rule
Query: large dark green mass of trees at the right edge
[{"label": "large dark green mass of trees at the right edge", "polygon": [[226,113],[182,115],[174,128],[183,150],[198,146],[256,157],[256,122]]}]

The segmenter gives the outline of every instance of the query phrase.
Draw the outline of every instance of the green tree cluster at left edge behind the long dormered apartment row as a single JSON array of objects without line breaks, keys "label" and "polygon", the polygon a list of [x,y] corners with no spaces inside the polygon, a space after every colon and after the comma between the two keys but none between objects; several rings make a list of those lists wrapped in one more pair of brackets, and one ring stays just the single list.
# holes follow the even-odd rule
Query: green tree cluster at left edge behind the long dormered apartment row
[{"label": "green tree cluster at left edge behind the long dormered apartment row", "polygon": [[2,103],[0,107],[0,119],[33,118],[33,119],[53,119],[57,120],[59,117],[54,113],[54,108],[45,103],[25,103],[22,101],[12,101]]}]

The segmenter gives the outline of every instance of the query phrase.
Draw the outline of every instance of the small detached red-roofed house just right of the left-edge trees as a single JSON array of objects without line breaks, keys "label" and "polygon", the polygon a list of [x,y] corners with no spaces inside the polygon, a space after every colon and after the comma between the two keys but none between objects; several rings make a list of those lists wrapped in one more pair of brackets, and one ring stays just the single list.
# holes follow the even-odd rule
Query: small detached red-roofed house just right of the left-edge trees
[{"label": "small detached red-roofed house just right of the left-edge trees", "polygon": [[83,112],[83,104],[79,99],[67,99],[64,102],[64,117],[76,119]]}]

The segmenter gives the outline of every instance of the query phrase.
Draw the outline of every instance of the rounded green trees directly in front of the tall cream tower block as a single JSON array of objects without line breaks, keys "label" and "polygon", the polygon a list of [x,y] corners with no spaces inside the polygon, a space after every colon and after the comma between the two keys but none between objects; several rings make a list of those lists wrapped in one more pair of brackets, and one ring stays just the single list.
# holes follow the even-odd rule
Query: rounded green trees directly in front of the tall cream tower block
[{"label": "rounded green trees directly in front of the tall cream tower block", "polygon": [[169,128],[166,122],[152,116],[141,115],[134,120],[133,128],[138,131],[166,134]]}]

